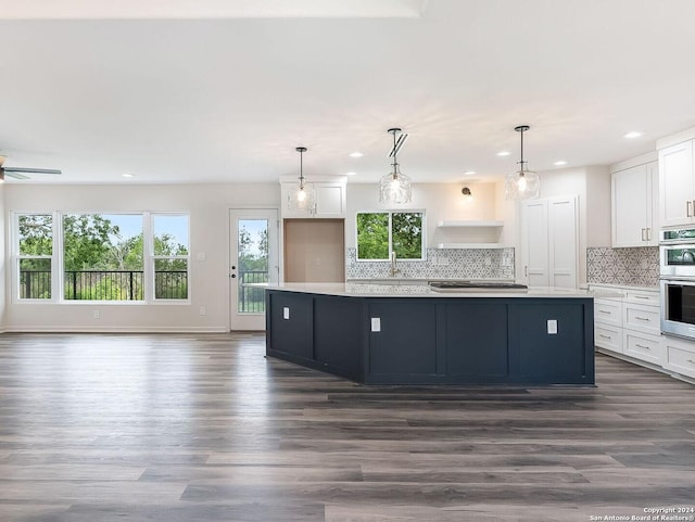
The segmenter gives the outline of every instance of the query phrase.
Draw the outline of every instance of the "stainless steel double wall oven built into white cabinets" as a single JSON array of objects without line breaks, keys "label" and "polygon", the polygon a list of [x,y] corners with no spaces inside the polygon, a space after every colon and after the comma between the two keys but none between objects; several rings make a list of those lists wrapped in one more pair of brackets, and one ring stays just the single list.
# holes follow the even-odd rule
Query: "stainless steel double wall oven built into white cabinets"
[{"label": "stainless steel double wall oven built into white cabinets", "polygon": [[695,339],[695,229],[662,230],[661,331]]}]

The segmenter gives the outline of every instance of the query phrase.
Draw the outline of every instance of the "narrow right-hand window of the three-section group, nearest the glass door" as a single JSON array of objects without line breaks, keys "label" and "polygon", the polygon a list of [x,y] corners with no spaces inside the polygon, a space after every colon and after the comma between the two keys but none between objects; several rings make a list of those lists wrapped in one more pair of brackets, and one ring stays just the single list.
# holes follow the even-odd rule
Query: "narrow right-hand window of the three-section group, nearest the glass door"
[{"label": "narrow right-hand window of the three-section group, nearest the glass door", "polygon": [[152,215],[154,298],[188,298],[188,215]]}]

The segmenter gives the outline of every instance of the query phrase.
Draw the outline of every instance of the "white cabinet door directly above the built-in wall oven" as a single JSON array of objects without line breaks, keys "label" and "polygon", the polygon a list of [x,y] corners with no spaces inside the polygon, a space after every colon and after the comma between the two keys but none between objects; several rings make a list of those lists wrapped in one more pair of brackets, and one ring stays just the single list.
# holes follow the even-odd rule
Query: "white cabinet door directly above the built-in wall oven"
[{"label": "white cabinet door directly above the built-in wall oven", "polygon": [[695,176],[693,142],[685,141],[659,151],[660,225],[690,225],[693,219]]}]

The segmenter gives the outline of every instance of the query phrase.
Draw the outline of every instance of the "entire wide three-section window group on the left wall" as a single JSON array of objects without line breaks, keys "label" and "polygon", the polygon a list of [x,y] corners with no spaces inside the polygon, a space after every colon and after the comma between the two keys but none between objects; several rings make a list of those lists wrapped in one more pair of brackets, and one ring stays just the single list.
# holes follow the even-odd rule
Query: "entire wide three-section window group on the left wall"
[{"label": "entire wide three-section window group on the left wall", "polygon": [[187,214],[56,213],[15,218],[20,300],[189,297]]}]

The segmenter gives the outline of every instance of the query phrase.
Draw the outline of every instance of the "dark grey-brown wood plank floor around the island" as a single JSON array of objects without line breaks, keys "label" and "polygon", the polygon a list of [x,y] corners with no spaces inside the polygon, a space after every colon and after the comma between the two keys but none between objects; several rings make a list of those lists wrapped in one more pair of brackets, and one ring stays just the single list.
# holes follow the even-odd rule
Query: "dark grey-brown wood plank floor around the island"
[{"label": "dark grey-brown wood plank floor around the island", "polygon": [[[589,521],[695,506],[695,386],[375,387],[260,334],[0,335],[0,521]],[[598,520],[598,519],[593,519]]]}]

